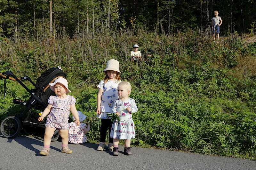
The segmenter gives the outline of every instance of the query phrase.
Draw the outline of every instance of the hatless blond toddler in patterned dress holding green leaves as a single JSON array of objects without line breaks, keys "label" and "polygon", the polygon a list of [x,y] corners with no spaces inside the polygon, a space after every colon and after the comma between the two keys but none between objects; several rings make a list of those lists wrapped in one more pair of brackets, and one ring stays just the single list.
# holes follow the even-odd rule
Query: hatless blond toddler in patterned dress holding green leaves
[{"label": "hatless blond toddler in patterned dress holding green leaves", "polygon": [[112,113],[116,113],[119,121],[116,119],[111,128],[110,138],[113,138],[113,155],[118,155],[119,139],[124,139],[124,153],[132,155],[131,139],[135,138],[135,127],[132,120],[132,113],[136,113],[138,108],[135,100],[130,98],[131,84],[127,81],[122,81],[117,86],[117,94],[119,99],[116,99],[113,104]]}]

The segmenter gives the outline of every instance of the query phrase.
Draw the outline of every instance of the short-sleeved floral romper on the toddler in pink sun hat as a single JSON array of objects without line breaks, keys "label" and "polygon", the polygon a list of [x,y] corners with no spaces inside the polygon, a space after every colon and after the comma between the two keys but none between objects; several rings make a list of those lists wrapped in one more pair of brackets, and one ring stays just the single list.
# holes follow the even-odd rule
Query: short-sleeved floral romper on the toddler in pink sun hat
[{"label": "short-sleeved floral romper on the toddler in pink sun hat", "polygon": [[47,117],[45,127],[68,130],[70,106],[76,103],[75,97],[68,95],[65,99],[60,99],[58,96],[50,96],[48,103],[52,105],[52,110]]}]

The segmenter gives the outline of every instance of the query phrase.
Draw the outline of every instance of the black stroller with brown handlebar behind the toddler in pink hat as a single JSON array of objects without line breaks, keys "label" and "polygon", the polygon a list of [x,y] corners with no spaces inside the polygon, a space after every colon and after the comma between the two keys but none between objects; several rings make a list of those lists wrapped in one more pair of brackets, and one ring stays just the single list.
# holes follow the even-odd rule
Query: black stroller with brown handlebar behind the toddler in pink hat
[{"label": "black stroller with brown handlebar behind the toddler in pink hat", "polygon": [[[8,116],[2,121],[1,133],[3,136],[5,138],[14,138],[20,133],[21,128],[23,128],[25,131],[26,129],[44,128],[47,116],[42,122],[39,122],[38,118],[41,115],[40,113],[42,113],[42,111],[47,107],[48,98],[55,95],[55,93],[49,88],[49,83],[54,82],[59,77],[66,78],[66,76],[67,74],[62,71],[61,67],[53,67],[46,70],[36,80],[35,84],[28,76],[17,78],[14,74],[12,74],[11,71],[0,73],[0,78],[4,79],[4,96],[6,89],[6,79],[18,81],[20,85],[30,93],[31,96],[28,101],[13,99],[14,104],[20,104],[27,107],[21,112],[20,116]],[[28,80],[35,86],[35,89],[28,89],[28,87],[24,85],[20,80]],[[32,111],[32,109],[39,111],[35,113]],[[69,122],[71,121],[72,119],[69,118]],[[58,140],[59,136],[60,133],[58,130],[56,130],[52,137],[52,141]]]}]

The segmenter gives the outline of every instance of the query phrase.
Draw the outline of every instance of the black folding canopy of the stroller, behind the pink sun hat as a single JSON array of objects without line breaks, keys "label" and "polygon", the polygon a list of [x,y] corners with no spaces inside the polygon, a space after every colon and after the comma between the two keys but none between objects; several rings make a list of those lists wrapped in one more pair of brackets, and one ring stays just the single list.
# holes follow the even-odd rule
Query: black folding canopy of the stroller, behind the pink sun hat
[{"label": "black folding canopy of the stroller, behind the pink sun hat", "polygon": [[54,91],[50,89],[49,83],[53,83],[59,77],[66,78],[67,74],[61,68],[53,67],[42,73],[36,80],[36,89],[34,89],[34,92],[46,106],[48,105],[48,98],[55,96]]}]

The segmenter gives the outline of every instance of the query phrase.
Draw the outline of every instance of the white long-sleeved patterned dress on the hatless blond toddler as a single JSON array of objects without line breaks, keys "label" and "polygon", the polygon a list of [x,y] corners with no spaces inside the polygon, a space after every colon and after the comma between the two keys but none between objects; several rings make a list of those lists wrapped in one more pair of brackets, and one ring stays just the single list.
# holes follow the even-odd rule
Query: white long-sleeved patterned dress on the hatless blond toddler
[{"label": "white long-sleeved patterned dress on the hatless blond toddler", "polygon": [[[124,110],[130,107],[131,112]],[[123,111],[121,111],[123,110]],[[120,112],[120,121],[115,120],[112,124],[110,138],[113,139],[132,139],[135,138],[135,126],[132,120],[132,113],[136,113],[138,108],[136,106],[135,100],[130,98],[122,102],[116,99],[113,104],[112,113]]]}]

